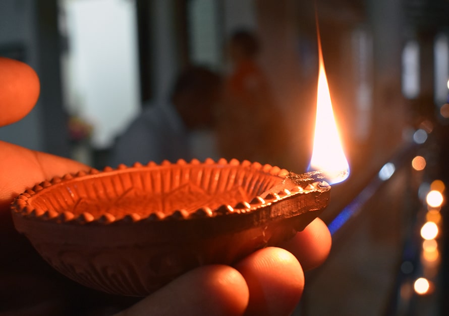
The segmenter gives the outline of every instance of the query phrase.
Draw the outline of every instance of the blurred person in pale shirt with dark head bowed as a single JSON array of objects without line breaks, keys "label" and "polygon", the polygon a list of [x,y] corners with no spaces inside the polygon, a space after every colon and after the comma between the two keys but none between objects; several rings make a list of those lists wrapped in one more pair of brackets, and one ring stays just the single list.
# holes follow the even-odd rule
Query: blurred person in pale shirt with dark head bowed
[{"label": "blurred person in pale shirt with dark head bowed", "polygon": [[[218,74],[204,67],[188,68],[176,79],[169,102],[144,108],[117,138],[109,164],[191,160],[193,134],[212,132],[215,128],[214,109],[220,102],[221,91]],[[212,155],[213,144],[204,146],[209,147],[204,151]]]}]

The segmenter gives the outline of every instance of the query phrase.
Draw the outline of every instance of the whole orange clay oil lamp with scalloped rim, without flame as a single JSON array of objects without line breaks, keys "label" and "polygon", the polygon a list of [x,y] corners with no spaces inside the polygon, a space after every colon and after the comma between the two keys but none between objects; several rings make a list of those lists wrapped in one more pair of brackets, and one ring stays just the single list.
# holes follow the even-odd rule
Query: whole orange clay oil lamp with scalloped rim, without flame
[{"label": "whole orange clay oil lamp with scalloped rim, without flame", "polygon": [[55,177],[21,194],[12,214],[67,277],[144,296],[195,267],[232,265],[291,238],[329,198],[320,172],[180,160]]}]

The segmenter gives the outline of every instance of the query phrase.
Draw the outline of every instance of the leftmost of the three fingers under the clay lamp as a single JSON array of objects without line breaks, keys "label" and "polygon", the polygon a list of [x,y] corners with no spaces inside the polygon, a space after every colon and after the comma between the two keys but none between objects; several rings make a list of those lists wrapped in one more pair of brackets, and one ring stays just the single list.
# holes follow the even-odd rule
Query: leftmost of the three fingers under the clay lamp
[{"label": "leftmost of the three fingers under the clay lamp", "polygon": [[234,268],[211,265],[197,268],[115,316],[242,315],[248,287]]}]

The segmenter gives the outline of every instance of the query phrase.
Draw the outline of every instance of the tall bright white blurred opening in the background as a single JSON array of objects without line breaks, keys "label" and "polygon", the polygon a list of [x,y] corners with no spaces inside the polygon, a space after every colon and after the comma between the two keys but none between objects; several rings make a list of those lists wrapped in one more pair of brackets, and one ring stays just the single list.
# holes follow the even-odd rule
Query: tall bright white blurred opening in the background
[{"label": "tall bright white blurred opening in the background", "polygon": [[134,1],[66,0],[68,110],[94,125],[92,146],[110,146],[140,110]]}]

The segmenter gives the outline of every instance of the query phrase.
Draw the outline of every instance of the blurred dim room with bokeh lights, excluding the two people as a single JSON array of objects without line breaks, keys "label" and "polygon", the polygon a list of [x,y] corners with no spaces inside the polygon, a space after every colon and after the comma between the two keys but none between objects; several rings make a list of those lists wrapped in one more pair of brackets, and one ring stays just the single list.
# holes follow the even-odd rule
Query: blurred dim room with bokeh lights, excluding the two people
[{"label": "blurred dim room with bokeh lights, excluding the two people", "polygon": [[[351,175],[332,188],[322,218],[333,248],[307,273],[294,314],[446,314],[449,1],[317,0],[316,8]],[[309,1],[0,0],[0,55],[26,62],[41,80],[36,107],[0,139],[101,169],[129,124],[166,103],[184,69],[231,78],[236,30],[259,39],[272,128],[282,131],[248,155],[266,149],[259,162],[302,173],[318,75]],[[218,121],[226,134],[257,112]],[[223,150],[217,133],[191,133],[193,156],[241,159],[250,147],[232,140]]]}]

